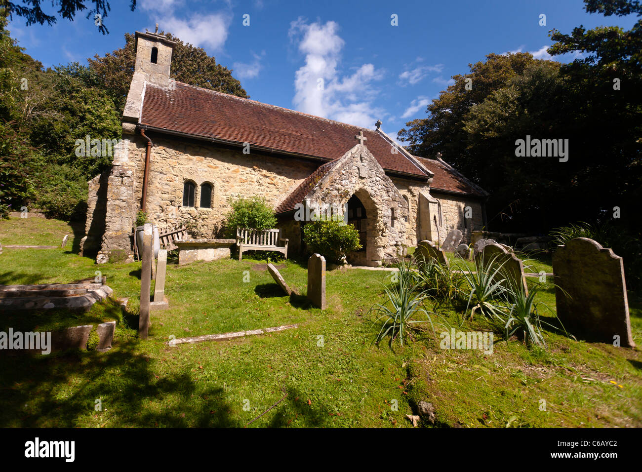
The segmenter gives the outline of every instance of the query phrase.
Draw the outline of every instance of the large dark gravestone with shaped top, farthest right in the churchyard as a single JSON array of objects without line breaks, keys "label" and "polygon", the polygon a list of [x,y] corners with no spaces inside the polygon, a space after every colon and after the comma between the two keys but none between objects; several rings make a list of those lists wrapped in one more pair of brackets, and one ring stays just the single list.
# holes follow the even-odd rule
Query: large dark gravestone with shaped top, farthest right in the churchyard
[{"label": "large dark gravestone with shaped top, farthest right in the churchyard", "polygon": [[575,238],[553,253],[555,303],[564,328],[586,340],[635,347],[624,263],[611,249]]}]

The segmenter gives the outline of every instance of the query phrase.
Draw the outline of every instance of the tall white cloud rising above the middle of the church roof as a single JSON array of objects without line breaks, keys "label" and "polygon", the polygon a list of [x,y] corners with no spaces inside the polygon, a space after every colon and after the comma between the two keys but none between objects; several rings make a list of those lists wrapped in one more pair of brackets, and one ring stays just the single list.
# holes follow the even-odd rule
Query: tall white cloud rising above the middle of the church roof
[{"label": "tall white cloud rising above the middle of the church roof", "polygon": [[299,17],[290,23],[288,36],[305,55],[305,64],[295,73],[292,101],[302,112],[372,128],[386,115],[372,106],[379,92],[372,82],[381,79],[383,71],[362,64],[354,73],[342,75],[338,64],[345,42],[338,30],[334,21],[308,24]]}]

